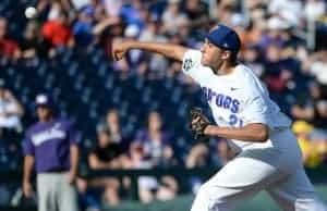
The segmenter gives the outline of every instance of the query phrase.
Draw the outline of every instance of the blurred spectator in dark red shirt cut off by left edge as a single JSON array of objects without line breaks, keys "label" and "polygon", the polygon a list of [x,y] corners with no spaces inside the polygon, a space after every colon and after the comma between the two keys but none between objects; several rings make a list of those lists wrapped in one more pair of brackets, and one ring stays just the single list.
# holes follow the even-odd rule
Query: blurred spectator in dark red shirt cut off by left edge
[{"label": "blurred spectator in dark red shirt cut off by left edge", "polygon": [[21,51],[17,42],[9,37],[7,27],[7,20],[0,16],[0,57],[16,59],[21,55]]}]

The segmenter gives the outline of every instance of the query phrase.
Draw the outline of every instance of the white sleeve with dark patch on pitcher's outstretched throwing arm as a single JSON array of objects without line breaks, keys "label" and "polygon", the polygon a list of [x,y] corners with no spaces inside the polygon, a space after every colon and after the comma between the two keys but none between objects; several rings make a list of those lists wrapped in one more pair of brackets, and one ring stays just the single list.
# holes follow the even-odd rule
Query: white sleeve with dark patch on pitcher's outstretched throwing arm
[{"label": "white sleeve with dark patch on pitcher's outstretched throwing arm", "polygon": [[183,57],[182,71],[191,76],[197,84],[203,86],[208,82],[213,72],[209,67],[201,63],[202,52],[198,50],[187,50]]}]

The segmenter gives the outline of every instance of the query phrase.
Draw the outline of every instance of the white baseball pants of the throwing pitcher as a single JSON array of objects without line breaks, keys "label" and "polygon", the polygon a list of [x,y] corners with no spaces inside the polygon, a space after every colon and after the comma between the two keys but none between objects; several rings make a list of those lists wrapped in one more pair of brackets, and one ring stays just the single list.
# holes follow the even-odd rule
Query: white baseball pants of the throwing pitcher
[{"label": "white baseball pants of the throwing pitcher", "polygon": [[230,211],[265,189],[284,211],[327,211],[317,198],[290,129],[270,135],[271,146],[245,149],[199,188],[191,211]]}]

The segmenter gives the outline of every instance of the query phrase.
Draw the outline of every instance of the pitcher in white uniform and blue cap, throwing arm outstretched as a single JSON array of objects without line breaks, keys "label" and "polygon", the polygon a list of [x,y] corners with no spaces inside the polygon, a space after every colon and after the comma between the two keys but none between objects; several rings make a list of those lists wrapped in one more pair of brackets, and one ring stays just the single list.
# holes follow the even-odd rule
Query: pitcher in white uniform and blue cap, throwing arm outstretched
[{"label": "pitcher in white uniform and blue cap, throwing arm outstretched", "polygon": [[130,49],[156,52],[182,61],[182,70],[202,87],[216,124],[203,135],[229,140],[238,156],[201,186],[191,211],[229,211],[259,190],[286,211],[326,211],[315,194],[290,129],[291,121],[270,100],[265,86],[238,63],[238,34],[219,24],[206,36],[201,51],[158,42],[116,42],[112,57]]}]

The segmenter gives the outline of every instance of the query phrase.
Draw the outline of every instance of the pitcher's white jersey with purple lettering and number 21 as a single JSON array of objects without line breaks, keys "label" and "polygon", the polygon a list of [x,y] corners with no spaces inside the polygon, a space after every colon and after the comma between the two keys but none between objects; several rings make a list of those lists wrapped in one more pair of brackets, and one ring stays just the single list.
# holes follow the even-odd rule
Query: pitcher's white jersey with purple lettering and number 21
[{"label": "pitcher's white jersey with purple lettering and number 21", "polygon": [[[263,123],[270,132],[290,126],[290,119],[270,100],[265,85],[249,67],[239,64],[230,74],[216,75],[210,67],[202,65],[201,59],[201,51],[187,50],[182,69],[202,87],[217,125],[241,127]],[[238,151],[271,146],[270,139],[264,144],[237,139],[229,142]]]}]

